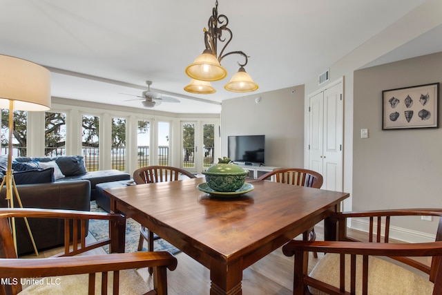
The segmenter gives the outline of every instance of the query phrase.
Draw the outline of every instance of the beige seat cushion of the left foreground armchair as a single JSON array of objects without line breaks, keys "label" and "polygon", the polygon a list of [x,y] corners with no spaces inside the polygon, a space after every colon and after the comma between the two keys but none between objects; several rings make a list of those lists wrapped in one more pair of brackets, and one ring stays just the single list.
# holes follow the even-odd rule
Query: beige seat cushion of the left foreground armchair
[{"label": "beige seat cushion of the left foreground armchair", "polygon": [[[35,283],[23,289],[20,295],[71,295],[88,294],[88,274],[73,276],[53,276],[50,278],[35,278],[39,283]],[[102,294],[102,274],[95,276],[95,294]],[[37,285],[38,284],[38,285]],[[108,294],[113,294],[113,274],[108,274]],[[124,269],[119,272],[119,294],[144,294],[149,291],[149,287],[143,278],[134,269]]]}]

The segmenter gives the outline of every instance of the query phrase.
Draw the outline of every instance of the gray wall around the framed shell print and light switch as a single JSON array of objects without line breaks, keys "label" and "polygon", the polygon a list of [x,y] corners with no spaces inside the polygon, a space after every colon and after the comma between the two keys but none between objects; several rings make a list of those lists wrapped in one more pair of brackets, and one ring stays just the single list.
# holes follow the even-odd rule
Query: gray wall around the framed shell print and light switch
[{"label": "gray wall around the framed shell print and light switch", "polygon": [[[442,53],[435,53],[354,72],[354,211],[442,208],[442,129],[383,131],[381,124],[383,90],[442,82],[441,68]],[[433,227],[414,221],[401,227]]]}]

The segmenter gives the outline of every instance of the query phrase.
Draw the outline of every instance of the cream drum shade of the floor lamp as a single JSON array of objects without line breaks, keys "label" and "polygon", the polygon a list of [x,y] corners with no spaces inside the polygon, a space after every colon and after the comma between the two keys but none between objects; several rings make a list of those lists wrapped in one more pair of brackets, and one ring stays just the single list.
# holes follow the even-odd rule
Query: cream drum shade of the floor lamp
[{"label": "cream drum shade of the floor lamp", "polygon": [[0,108],[17,111],[50,109],[50,73],[31,61],[0,55]]}]

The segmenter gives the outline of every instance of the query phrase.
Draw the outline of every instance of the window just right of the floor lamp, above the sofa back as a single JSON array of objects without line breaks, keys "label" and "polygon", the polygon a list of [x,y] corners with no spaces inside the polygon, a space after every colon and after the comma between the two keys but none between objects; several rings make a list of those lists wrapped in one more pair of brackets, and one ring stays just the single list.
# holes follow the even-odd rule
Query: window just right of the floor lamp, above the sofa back
[{"label": "window just right of the floor lamp, above the sofa back", "polygon": [[48,157],[66,155],[66,113],[45,113],[44,153]]}]

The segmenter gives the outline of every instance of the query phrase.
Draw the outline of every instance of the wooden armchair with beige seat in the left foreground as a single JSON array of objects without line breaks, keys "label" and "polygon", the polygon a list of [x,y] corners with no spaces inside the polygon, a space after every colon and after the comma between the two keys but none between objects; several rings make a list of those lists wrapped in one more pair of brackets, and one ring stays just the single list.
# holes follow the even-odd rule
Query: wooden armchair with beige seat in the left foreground
[{"label": "wooden armchair with beige seat in the left foreground", "polygon": [[[50,258],[17,258],[11,220],[24,217],[64,220],[64,251]],[[86,243],[90,220],[108,220],[109,231],[116,231],[109,233],[110,238]],[[96,255],[97,248],[104,245],[111,245],[112,252],[124,251],[118,241],[119,235],[125,234],[125,227],[124,216],[117,213],[0,209],[0,294],[167,294],[167,269],[173,270],[177,265],[169,252]],[[86,255],[92,250],[95,254]],[[135,271],[140,267],[154,268],[153,290],[149,291]],[[29,286],[23,287],[22,283]]]}]

